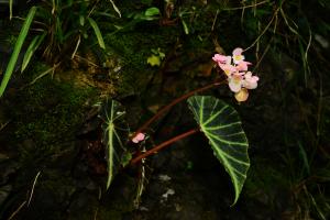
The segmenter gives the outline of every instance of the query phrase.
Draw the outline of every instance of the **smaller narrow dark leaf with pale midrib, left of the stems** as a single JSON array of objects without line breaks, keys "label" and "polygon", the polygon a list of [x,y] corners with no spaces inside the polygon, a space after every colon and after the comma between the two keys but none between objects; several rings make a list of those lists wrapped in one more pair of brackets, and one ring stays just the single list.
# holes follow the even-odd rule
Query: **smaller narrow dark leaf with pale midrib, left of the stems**
[{"label": "smaller narrow dark leaf with pale midrib, left of the stems", "polygon": [[100,118],[105,121],[102,141],[106,144],[108,167],[107,189],[128,156],[124,144],[128,141],[129,129],[124,116],[125,110],[118,101],[107,100],[102,105]]}]

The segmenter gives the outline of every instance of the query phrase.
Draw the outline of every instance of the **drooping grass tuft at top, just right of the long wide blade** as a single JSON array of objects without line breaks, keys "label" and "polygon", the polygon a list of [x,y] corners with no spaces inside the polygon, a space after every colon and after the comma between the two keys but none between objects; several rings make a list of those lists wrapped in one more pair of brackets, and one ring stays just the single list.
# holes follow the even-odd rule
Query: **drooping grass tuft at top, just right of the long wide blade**
[{"label": "drooping grass tuft at top, just right of the long wide blade", "polygon": [[[81,45],[81,40],[89,37],[89,30],[92,30],[91,35],[101,48],[106,48],[100,26],[98,25],[98,3],[99,1],[52,1],[41,3],[36,21],[43,24],[38,28],[45,35],[40,37],[37,43],[32,42],[31,50],[28,51],[24,62],[24,70],[30,63],[33,52],[40,50],[46,62],[52,66],[57,63],[64,63],[66,58],[75,56],[77,50]],[[87,23],[85,21],[88,21]],[[36,40],[34,40],[36,41]],[[89,40],[89,42],[91,42]],[[92,43],[89,43],[92,45]],[[69,55],[69,56],[68,56]]]}]

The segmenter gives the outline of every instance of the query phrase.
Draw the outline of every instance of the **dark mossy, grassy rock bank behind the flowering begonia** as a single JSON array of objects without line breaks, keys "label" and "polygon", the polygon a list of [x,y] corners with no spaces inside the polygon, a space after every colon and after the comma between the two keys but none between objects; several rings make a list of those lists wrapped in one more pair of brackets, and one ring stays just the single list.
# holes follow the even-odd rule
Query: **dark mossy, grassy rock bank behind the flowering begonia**
[{"label": "dark mossy, grassy rock bank behind the flowering begonia", "polygon": [[[56,2],[54,14],[52,1],[32,2],[48,15],[36,15],[22,54],[38,29],[47,35],[22,75],[20,55],[0,100],[1,219],[329,218],[328,1]],[[11,21],[1,15],[1,80],[22,23],[16,16],[30,4],[14,6]],[[160,14],[146,16],[150,8]],[[106,50],[80,23],[89,13]],[[238,205],[229,208],[230,179],[202,151],[201,135],[119,170],[106,191],[95,103],[118,99],[135,129],[169,100],[219,78],[212,55],[237,46],[253,61],[258,89],[241,105],[226,86],[207,94],[234,106],[249,139],[251,168]],[[155,52],[165,54],[160,66],[147,64]],[[147,130],[150,142],[186,131],[187,116],[173,108]],[[175,194],[165,199],[168,189]]]}]

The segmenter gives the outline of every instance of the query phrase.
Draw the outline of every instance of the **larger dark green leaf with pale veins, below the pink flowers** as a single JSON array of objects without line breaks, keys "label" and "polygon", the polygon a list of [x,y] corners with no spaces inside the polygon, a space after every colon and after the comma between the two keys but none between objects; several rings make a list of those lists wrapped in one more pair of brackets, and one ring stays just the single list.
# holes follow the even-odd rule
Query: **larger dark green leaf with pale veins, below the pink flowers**
[{"label": "larger dark green leaf with pale veins, below the pink flowers", "polygon": [[232,107],[210,96],[190,97],[188,103],[215,155],[231,177],[235,190],[234,205],[250,167],[249,143],[239,114]]}]

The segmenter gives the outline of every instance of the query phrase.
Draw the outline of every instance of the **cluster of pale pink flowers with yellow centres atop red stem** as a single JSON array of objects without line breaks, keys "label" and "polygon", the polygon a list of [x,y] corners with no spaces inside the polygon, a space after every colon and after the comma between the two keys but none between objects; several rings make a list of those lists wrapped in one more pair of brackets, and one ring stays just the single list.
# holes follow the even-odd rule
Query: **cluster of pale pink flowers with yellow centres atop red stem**
[{"label": "cluster of pale pink flowers with yellow centres atop red stem", "polygon": [[249,97],[248,89],[255,89],[258,81],[257,76],[252,76],[252,73],[248,72],[251,63],[244,61],[245,57],[242,53],[242,48],[235,48],[232,56],[215,54],[212,57],[227,75],[229,88],[235,92],[238,101],[246,101]]}]

